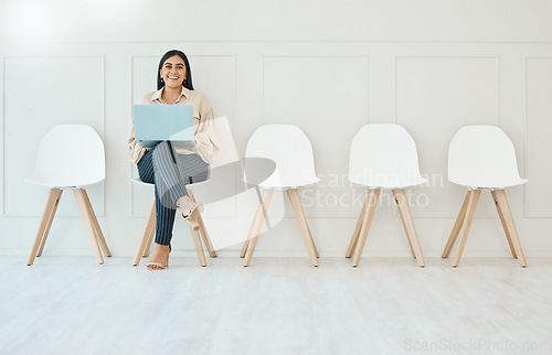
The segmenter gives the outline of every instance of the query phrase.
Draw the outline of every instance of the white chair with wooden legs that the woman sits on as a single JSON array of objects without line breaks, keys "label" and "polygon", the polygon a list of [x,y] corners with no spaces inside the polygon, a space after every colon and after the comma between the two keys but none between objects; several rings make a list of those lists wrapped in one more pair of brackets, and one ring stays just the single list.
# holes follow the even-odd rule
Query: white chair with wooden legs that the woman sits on
[{"label": "white chair with wooden legs that the woman sits on", "polygon": [[[232,130],[230,128],[227,118],[225,116],[223,116],[223,117],[215,118],[214,121],[215,121],[215,127],[216,127],[216,133],[219,135],[219,141],[221,144],[221,152],[219,154],[219,159],[211,165],[211,173],[210,173],[208,181],[185,185],[185,189],[188,190],[190,197],[194,201],[195,201],[195,198],[194,198],[193,192],[192,192],[192,190],[194,187],[200,186],[200,185],[210,184],[212,182],[216,183],[216,181],[217,181],[216,174],[219,172],[219,170],[216,168],[237,161],[237,153],[235,152],[234,140],[232,138]],[[142,185],[150,185],[150,186],[153,185],[150,183],[142,182],[139,178],[132,179],[132,182],[138,183],[138,184],[142,184]],[[213,244],[211,243],[211,238],[209,236],[209,233],[206,230],[205,224],[204,224],[201,215],[198,218],[198,222],[199,222],[199,229],[194,229],[190,226],[190,232],[192,235],[193,244],[195,246],[195,251],[198,254],[199,262],[201,266],[204,267],[204,266],[206,266],[206,259],[205,259],[205,255],[203,252],[203,246],[201,244],[201,239],[203,239],[203,243],[205,244],[205,247],[209,251],[210,257],[216,258],[216,251],[213,248]],[[149,255],[149,250],[150,250],[155,234],[156,234],[156,200],[153,198],[153,202],[151,204],[151,208],[149,212],[149,216],[148,216],[148,219],[146,223],[146,227],[144,228],[142,236],[140,238],[140,245],[138,247],[138,250],[137,250],[136,256],[135,256],[135,260],[132,262],[134,266],[137,266],[140,263],[141,257],[147,257]],[[201,238],[200,238],[200,236],[201,236]]]}]

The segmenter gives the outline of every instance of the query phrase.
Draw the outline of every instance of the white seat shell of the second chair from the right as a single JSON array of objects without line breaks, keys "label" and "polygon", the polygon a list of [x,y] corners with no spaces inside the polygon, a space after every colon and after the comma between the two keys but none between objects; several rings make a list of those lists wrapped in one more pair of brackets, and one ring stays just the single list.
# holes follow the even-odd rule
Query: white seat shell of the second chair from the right
[{"label": "white seat shell of the second chair from the right", "polygon": [[413,186],[427,180],[420,174],[416,143],[399,125],[365,125],[354,136],[349,157],[349,180],[382,189]]}]

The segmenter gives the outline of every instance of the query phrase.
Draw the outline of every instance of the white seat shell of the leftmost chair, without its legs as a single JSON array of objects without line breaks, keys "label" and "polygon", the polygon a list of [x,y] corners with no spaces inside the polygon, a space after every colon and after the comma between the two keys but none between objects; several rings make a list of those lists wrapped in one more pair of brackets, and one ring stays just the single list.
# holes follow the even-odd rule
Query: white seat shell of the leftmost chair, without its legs
[{"label": "white seat shell of the leftmost chair, without its legs", "polygon": [[34,178],[46,186],[84,186],[105,179],[102,138],[86,125],[61,125],[42,139]]}]

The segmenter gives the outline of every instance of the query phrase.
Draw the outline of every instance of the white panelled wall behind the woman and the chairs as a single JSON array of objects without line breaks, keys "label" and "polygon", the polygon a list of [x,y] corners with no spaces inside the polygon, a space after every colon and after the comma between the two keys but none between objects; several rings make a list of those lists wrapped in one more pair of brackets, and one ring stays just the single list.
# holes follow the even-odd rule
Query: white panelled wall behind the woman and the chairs
[{"label": "white panelled wall behind the woman and the chairs", "polygon": [[[350,140],[369,122],[404,126],[434,180],[412,189],[426,256],[440,255],[465,194],[446,180],[448,142],[465,125],[500,126],[530,181],[507,191],[522,246],[528,256],[550,256],[551,12],[551,2],[534,0],[3,1],[0,252],[23,255],[32,245],[46,191],[23,179],[33,174],[40,139],[55,125],[82,122],[106,146],[107,179],[89,189],[99,223],[115,255],[134,254],[151,191],[130,183],[131,105],[155,89],[160,56],[181,49],[197,89],[216,116],[229,116],[241,154],[263,123],[294,123],[310,138],[322,181],[301,195],[322,256],[344,255],[360,213],[362,189],[342,179]],[[382,198],[367,250],[407,256],[395,208],[388,193]],[[238,200],[208,206],[209,229],[243,235],[248,220],[237,225],[237,216],[254,209]],[[258,255],[307,257],[287,202],[285,211]],[[176,248],[193,249],[184,223],[174,233]],[[466,256],[509,255],[488,193],[468,239]],[[68,193],[45,252],[92,254]]]}]

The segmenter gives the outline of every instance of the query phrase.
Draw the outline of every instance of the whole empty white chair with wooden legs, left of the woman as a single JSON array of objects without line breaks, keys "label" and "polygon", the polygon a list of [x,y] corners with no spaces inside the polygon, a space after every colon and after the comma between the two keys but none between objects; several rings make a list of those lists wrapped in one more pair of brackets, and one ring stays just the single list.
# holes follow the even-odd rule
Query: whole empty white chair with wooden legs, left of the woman
[{"label": "whole empty white chair with wooden legs, left of the woman", "polygon": [[46,133],[40,143],[34,176],[26,179],[32,184],[50,187],[46,206],[29,256],[29,266],[34,262],[35,257],[42,255],[57,204],[63,190],[66,189],[73,190],[75,194],[96,260],[104,263],[99,247],[104,255],[112,256],[85,190],[86,185],[95,184],[104,179],[104,143],[92,127],[61,125]]}]

